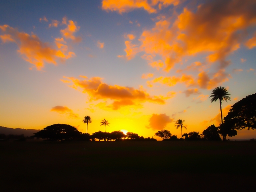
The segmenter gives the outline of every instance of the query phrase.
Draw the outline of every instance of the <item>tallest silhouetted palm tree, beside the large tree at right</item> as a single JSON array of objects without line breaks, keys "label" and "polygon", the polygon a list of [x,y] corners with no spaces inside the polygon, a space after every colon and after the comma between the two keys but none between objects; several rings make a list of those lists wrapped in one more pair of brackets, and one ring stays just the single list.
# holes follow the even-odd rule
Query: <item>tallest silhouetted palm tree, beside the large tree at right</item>
[{"label": "tallest silhouetted palm tree, beside the large tree at right", "polygon": [[230,96],[228,96],[230,94],[228,94],[228,90],[226,90],[226,88],[224,87],[216,87],[214,90],[212,90],[212,95],[210,97],[213,97],[211,99],[211,102],[214,102],[216,100],[220,100],[220,114],[221,114],[221,124],[223,124],[223,120],[222,120],[222,109],[221,109],[221,103],[223,100],[225,100],[226,102],[228,102],[228,100],[230,100]]}]

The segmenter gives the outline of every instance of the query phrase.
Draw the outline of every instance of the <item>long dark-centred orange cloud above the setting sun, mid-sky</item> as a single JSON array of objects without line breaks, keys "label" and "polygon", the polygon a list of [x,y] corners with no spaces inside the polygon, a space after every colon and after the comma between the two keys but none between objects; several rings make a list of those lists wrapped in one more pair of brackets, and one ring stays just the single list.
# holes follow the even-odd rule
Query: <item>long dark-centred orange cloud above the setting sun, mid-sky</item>
[{"label": "long dark-centred orange cloud above the setting sun, mid-sky", "polygon": [[[110,100],[113,101],[107,107],[112,110],[118,110],[123,106],[140,106],[144,102],[153,102],[156,104],[165,104],[163,96],[150,96],[144,90],[134,89],[132,87],[122,87],[118,85],[108,85],[102,82],[100,77],[88,79],[86,76],[80,76],[82,79],[74,77],[64,77],[72,82],[70,87],[76,90],[82,90],[88,94],[89,101]],[[65,80],[62,80],[65,82]],[[170,97],[170,95],[167,95]]]}]

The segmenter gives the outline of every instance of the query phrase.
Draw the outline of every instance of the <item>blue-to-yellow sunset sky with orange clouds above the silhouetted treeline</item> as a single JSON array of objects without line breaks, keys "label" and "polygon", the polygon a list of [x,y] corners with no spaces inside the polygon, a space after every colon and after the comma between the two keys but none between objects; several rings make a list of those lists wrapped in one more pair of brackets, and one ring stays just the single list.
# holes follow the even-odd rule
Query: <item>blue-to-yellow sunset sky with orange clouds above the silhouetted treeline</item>
[{"label": "blue-to-yellow sunset sky with orange clouds above the silhouetted treeline", "polygon": [[[256,92],[256,0],[0,2],[0,126],[178,138]],[[256,138],[241,130],[235,138]],[[157,138],[160,140],[160,138]],[[233,138],[232,138],[233,139]]]}]

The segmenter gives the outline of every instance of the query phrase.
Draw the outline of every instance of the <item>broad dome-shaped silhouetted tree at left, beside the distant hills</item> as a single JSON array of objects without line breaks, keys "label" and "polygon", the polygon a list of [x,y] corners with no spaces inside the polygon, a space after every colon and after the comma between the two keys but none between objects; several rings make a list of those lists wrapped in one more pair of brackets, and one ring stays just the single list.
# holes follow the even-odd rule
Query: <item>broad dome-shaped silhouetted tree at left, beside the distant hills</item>
[{"label": "broad dome-shaped silhouetted tree at left, beside the distant hills", "polygon": [[48,140],[78,140],[80,138],[80,131],[75,127],[67,124],[53,124],[47,126],[43,130],[34,133],[34,137],[48,139]]}]

